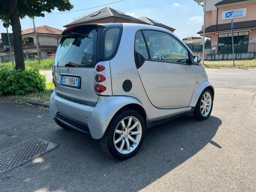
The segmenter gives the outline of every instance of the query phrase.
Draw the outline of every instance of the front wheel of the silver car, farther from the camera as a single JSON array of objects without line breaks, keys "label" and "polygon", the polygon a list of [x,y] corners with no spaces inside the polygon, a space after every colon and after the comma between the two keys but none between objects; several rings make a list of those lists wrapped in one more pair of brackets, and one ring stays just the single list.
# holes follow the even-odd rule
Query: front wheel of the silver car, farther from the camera
[{"label": "front wheel of the silver car, farther from the camera", "polygon": [[[205,101],[203,102],[202,100],[205,100],[204,96],[209,96],[209,95],[210,95],[209,102],[207,102],[207,100],[206,100],[206,102]],[[202,106],[203,106],[203,108],[205,107],[205,110],[203,112],[202,112],[203,108],[201,108]],[[210,110],[209,110],[209,106],[210,106]],[[207,118],[209,118],[209,116],[212,113],[212,106],[213,106],[212,91],[209,89],[206,89],[202,92],[202,94],[198,98],[196,107],[193,112],[194,117],[198,120],[206,120]]]}]

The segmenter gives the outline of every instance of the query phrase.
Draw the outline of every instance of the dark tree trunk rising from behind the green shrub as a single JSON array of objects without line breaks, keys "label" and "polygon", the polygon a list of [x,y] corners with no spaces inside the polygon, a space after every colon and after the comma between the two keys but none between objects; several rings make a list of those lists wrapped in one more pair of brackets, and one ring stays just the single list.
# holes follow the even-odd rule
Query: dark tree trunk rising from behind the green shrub
[{"label": "dark tree trunk rising from behind the green shrub", "polygon": [[8,0],[9,12],[12,25],[13,43],[14,43],[14,56],[15,56],[15,68],[25,69],[23,45],[20,27],[20,15],[17,8],[17,0]]}]

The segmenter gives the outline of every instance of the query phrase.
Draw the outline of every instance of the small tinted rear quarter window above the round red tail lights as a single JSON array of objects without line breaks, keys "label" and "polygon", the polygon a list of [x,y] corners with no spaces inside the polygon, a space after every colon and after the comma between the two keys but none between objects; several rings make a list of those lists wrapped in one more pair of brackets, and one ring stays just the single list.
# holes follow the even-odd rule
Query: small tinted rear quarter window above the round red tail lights
[{"label": "small tinted rear quarter window above the round red tail lights", "polygon": [[112,54],[114,53],[118,43],[119,33],[119,28],[112,28],[106,31],[104,48],[104,54],[106,58],[112,56]]}]

